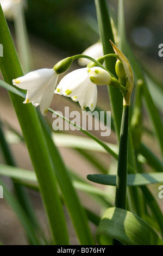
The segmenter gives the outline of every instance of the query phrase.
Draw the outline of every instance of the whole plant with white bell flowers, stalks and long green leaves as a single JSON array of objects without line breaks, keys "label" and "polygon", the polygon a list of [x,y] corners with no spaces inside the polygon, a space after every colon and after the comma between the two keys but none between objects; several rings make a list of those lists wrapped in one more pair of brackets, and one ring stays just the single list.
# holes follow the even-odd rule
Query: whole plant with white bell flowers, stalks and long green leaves
[{"label": "whole plant with white bell flowers, stalks and long green leaves", "polygon": [[[23,1],[10,2],[13,11]],[[51,69],[43,68],[28,72],[27,58],[24,61],[27,71],[25,75],[0,7],[0,39],[3,45],[0,66],[4,78],[4,81],[0,81],[0,86],[9,92],[22,129],[22,139],[26,142],[34,167],[34,172],[17,167],[1,121],[0,144],[6,164],[0,164],[0,175],[11,178],[15,192],[15,195],[12,194],[0,179],[3,196],[21,221],[30,245],[70,245],[64,209],[69,212],[79,245],[163,245],[162,212],[147,187],[152,183],[163,182],[163,167],[161,160],[141,140],[142,101],[146,102],[149,118],[153,123],[153,132],[163,153],[161,118],[149,93],[141,67],[131,51],[126,51],[129,46],[123,27],[123,1],[118,1],[117,27],[110,22],[106,1],[96,0],[95,5],[101,41],[83,54],[60,60]],[[23,17],[22,5],[19,11]],[[14,17],[17,24],[15,29],[19,29],[16,15]],[[23,25],[21,31],[26,30],[25,23]],[[26,34],[26,31],[22,33]],[[29,48],[29,45],[27,47]],[[29,51],[26,51],[27,47],[22,46],[25,52],[24,58],[29,54]],[[93,47],[97,47],[95,56],[94,51],[90,51]],[[68,72],[76,59],[84,67]],[[58,82],[60,75],[64,76]],[[87,109],[91,112],[95,109],[100,111],[97,106],[97,87],[100,86],[108,88],[112,123],[114,123],[112,132],[116,134],[117,145],[105,143],[93,133],[50,108],[53,97],[60,94],[78,102],[82,112],[86,112]],[[89,137],[82,138],[86,141],[81,144],[79,136],[70,135],[68,142],[70,147],[73,142],[73,147],[78,153],[85,156],[92,167],[98,168],[101,172],[87,175],[89,183],[71,172],[62,160],[55,145],[54,138],[57,138],[57,133],[52,132],[48,125],[47,112],[58,115]],[[60,135],[62,142],[65,142],[67,137]],[[108,173],[108,169],[99,161],[100,159],[87,153],[89,148],[96,150],[96,145],[100,147],[98,150],[104,150],[117,161],[114,175]],[[153,172],[144,171],[140,155],[154,170]],[[114,186],[114,196],[107,190],[94,186],[93,182]],[[51,239],[47,239],[43,234],[26,193],[26,187],[39,190],[41,194],[51,229]],[[101,207],[102,215],[83,206],[78,190],[87,193],[95,200],[95,203]],[[96,226],[96,234],[93,234],[89,221]]]}]

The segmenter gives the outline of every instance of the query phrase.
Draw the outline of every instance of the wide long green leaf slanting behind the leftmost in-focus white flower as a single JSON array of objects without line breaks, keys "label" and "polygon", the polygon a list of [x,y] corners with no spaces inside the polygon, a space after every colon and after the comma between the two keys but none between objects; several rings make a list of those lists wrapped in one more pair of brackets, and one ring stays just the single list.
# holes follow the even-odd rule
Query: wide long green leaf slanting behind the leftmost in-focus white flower
[{"label": "wide long green leaf slanting behind the leftmost in-focus white flower", "polygon": [[[3,45],[1,71],[5,82],[12,84],[12,79],[23,75],[12,38],[0,6],[0,38]],[[47,210],[50,226],[55,243],[69,243],[64,211],[57,189],[53,164],[45,137],[43,135],[36,109],[31,104],[25,105],[22,97],[10,93],[18,120],[27,143],[30,157],[39,181],[42,197]]]}]

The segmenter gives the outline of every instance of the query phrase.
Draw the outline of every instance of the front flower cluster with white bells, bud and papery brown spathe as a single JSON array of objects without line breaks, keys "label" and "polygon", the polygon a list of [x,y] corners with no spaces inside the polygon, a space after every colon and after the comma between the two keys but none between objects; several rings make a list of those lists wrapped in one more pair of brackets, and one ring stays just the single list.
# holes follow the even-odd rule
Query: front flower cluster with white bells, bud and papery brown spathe
[{"label": "front flower cluster with white bells, bud and papery brown spathe", "polygon": [[[122,60],[122,65],[124,66],[123,76],[127,82],[127,89],[130,90],[129,83],[132,83],[133,76],[131,74],[130,64],[121,51],[114,44],[112,46],[117,56]],[[95,65],[88,65],[86,68],[77,69],[68,73],[57,85],[59,75],[70,68],[72,61],[73,58],[69,57],[61,60],[53,69],[32,71],[12,80],[15,86],[27,90],[26,100],[23,103],[32,102],[35,107],[40,105],[41,114],[45,116],[55,93],[71,97],[73,101],[78,101],[82,111],[85,111],[86,107],[89,107],[93,111],[97,102],[97,85],[109,84],[110,86],[126,89],[103,66],[99,67]],[[118,64],[119,66],[120,64]]]}]

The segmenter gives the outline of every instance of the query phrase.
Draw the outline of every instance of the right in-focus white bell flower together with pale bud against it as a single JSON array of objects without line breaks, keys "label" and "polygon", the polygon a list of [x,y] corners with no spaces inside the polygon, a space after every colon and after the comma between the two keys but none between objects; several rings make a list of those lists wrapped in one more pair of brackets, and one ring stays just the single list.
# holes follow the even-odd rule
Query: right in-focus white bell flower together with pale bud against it
[{"label": "right in-focus white bell flower together with pale bud against it", "polygon": [[[100,72],[102,72],[101,75]],[[105,81],[102,76],[105,76]],[[93,82],[91,82],[91,78]],[[74,70],[62,78],[54,93],[78,101],[82,111],[85,111],[86,107],[93,111],[97,102],[96,84],[102,85],[109,82],[110,74],[102,68],[97,66],[90,69],[82,68]]]}]

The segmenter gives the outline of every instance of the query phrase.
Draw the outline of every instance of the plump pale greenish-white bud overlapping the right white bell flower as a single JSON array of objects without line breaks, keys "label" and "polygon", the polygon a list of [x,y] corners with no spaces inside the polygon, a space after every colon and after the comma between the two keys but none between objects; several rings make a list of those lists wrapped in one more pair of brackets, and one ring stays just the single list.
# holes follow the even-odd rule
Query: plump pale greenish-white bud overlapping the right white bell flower
[{"label": "plump pale greenish-white bud overlapping the right white bell flower", "polygon": [[104,84],[110,84],[111,76],[106,70],[94,66],[87,70],[90,80],[92,83],[98,84],[98,86],[103,86]]}]

